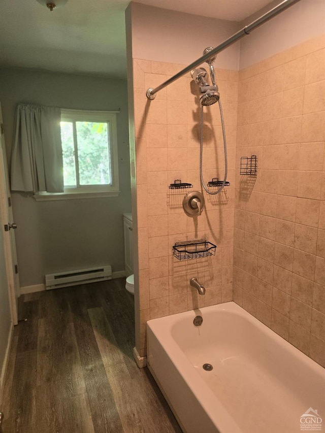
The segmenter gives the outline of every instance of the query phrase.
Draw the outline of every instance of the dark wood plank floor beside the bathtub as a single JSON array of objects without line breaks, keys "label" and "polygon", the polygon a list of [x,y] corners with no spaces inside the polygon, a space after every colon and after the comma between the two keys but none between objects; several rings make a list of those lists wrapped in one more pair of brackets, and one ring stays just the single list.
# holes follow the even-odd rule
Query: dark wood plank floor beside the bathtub
[{"label": "dark wood plank floor beside the bathtub", "polygon": [[5,381],[3,433],[177,432],[149,371],[133,359],[125,280],[19,299]]}]

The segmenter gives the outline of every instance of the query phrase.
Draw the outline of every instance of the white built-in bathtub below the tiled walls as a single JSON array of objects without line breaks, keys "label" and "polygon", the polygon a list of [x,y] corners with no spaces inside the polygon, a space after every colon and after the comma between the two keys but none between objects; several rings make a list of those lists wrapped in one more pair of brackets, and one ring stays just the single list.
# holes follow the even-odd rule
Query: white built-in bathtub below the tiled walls
[{"label": "white built-in bathtub below the tiled walls", "polygon": [[325,370],[233,302],[149,320],[147,351],[184,432],[325,430]]}]

